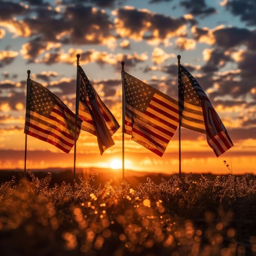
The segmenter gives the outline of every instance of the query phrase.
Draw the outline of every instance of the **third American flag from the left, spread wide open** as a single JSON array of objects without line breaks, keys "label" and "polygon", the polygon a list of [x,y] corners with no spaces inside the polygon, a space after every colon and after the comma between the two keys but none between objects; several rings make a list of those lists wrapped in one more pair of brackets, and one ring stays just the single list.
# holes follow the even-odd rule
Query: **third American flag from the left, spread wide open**
[{"label": "third American flag from the left, spread wide open", "polygon": [[178,102],[124,72],[125,133],[160,157],[179,124]]}]

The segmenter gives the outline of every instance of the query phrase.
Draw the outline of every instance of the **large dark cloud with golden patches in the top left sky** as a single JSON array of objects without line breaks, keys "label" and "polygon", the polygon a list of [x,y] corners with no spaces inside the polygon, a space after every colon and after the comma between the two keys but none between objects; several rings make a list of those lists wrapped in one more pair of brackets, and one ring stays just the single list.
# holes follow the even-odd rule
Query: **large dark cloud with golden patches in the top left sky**
[{"label": "large dark cloud with golden patches in the top left sky", "polygon": [[[29,1],[33,2],[33,1]],[[35,2],[36,7],[9,2],[0,3],[0,26],[14,36],[29,37],[36,35],[43,42],[72,44],[111,45],[116,40],[112,35],[113,24],[104,10],[86,7],[83,4],[51,7],[48,3]],[[5,8],[1,9],[1,5]],[[10,11],[8,11],[11,9]],[[22,20],[13,18],[18,14],[31,13]]]}]

